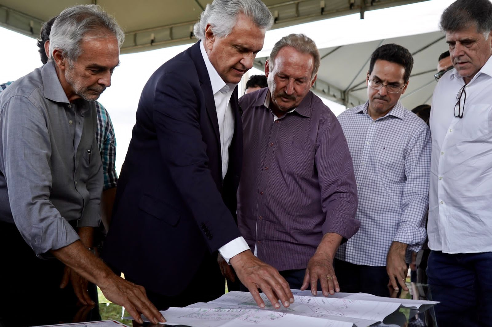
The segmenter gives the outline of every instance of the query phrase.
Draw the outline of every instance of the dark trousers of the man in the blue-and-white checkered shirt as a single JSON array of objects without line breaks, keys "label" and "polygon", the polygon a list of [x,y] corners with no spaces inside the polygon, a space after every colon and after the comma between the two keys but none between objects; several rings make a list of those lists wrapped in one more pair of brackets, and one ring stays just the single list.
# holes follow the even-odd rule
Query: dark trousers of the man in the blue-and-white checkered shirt
[{"label": "dark trousers of the man in the blue-and-white checkered shirt", "polygon": [[386,266],[355,265],[335,259],[334,268],[340,292],[362,292],[378,297],[389,297],[391,295],[388,289],[389,278]]}]

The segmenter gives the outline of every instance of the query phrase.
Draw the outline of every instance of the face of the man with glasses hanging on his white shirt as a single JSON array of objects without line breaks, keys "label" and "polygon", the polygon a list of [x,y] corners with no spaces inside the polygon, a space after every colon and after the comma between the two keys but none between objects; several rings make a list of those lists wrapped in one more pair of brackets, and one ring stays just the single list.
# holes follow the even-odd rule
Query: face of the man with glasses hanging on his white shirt
[{"label": "face of the man with glasses hanging on his white shirt", "polygon": [[[487,36],[487,38],[486,38]],[[492,32],[479,33],[476,25],[458,30],[446,31],[446,43],[453,66],[468,83],[492,55]]]}]

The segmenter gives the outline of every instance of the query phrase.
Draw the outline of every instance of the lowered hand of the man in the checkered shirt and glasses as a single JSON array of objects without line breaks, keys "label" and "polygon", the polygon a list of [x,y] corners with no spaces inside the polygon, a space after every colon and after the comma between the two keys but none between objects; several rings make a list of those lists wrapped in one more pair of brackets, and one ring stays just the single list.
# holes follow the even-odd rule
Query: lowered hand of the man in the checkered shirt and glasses
[{"label": "lowered hand of the man in the checkered shirt and glasses", "polygon": [[388,286],[393,287],[395,290],[399,290],[398,284],[400,284],[403,290],[408,291],[408,287],[405,284],[408,273],[408,267],[405,263],[407,246],[408,244],[393,241],[386,258],[386,272],[388,277],[390,277]]}]

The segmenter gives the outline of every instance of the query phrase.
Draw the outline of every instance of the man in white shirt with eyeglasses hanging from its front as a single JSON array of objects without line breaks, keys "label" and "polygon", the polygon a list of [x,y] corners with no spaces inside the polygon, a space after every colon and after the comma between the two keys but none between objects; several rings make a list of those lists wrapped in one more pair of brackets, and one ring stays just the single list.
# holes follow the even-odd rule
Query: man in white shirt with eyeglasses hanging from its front
[{"label": "man in white shirt with eyeglasses hanging from its front", "polygon": [[[432,99],[428,282],[435,300],[447,299],[435,308],[439,325],[471,326],[479,319],[490,326],[492,3],[458,0],[443,12],[440,27],[455,68],[439,80]],[[471,318],[461,325],[457,312],[458,319]]]}]

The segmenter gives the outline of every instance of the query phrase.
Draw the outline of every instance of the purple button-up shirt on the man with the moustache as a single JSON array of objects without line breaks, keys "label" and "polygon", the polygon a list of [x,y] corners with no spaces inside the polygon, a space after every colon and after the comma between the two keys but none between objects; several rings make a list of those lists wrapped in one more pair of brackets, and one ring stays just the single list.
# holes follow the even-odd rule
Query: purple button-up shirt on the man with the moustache
[{"label": "purple button-up shirt on the man with the moustache", "polygon": [[278,270],[304,269],[325,233],[352,237],[357,187],[335,115],[309,92],[274,121],[268,88],[244,95],[244,155],[238,225],[258,258]]}]

